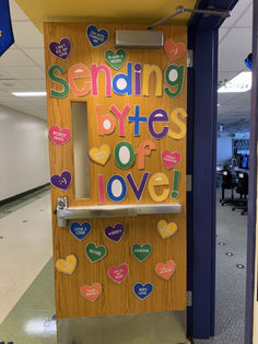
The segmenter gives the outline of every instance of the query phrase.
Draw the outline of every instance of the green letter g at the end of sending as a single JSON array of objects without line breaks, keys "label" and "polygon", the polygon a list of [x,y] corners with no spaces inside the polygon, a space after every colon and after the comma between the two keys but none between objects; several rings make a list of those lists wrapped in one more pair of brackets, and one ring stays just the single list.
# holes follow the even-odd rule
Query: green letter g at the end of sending
[{"label": "green letter g at the end of sending", "polygon": [[165,70],[165,81],[169,87],[176,87],[176,90],[172,92],[169,88],[165,88],[165,92],[168,96],[176,98],[181,93],[184,85],[185,67],[169,65]]}]

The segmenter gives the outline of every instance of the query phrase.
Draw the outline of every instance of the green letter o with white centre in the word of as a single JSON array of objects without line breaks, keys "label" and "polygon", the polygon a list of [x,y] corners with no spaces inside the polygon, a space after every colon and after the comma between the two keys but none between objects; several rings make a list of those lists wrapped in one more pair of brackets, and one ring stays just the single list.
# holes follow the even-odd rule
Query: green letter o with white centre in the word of
[{"label": "green letter o with white centre in the word of", "polygon": [[128,141],[120,141],[115,148],[114,157],[118,168],[129,169],[134,162],[134,149]]}]

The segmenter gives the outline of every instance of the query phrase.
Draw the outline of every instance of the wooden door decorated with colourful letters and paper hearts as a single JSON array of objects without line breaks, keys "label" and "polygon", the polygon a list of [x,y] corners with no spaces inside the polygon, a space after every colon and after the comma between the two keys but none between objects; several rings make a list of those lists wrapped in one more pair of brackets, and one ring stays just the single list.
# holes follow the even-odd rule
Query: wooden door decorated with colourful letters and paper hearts
[{"label": "wooden door decorated with colourful letters and paper hearts", "polygon": [[[160,49],[115,48],[121,28],[144,30],[45,24],[58,319],[186,309],[187,27],[159,27]],[[181,211],[60,228],[63,196],[74,208]]]}]

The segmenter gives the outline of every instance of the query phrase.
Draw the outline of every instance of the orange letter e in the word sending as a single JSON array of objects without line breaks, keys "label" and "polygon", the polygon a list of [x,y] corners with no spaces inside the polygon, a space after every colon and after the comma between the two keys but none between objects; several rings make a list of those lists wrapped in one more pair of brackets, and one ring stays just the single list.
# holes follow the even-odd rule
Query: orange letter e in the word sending
[{"label": "orange letter e in the word sending", "polygon": [[86,78],[91,78],[91,73],[85,65],[77,64],[77,65],[73,65],[69,69],[68,82],[69,82],[72,93],[75,94],[77,96],[84,96],[91,91],[92,89],[91,81],[85,81],[82,89],[79,89],[74,81],[75,79],[86,79]]}]

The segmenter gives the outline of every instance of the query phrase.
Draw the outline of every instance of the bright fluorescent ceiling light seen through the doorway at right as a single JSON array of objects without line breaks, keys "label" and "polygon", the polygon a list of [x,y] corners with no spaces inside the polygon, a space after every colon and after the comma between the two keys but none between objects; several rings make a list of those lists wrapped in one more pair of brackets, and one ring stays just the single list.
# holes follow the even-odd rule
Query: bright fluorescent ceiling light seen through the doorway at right
[{"label": "bright fluorescent ceiling light seen through the doorway at right", "polygon": [[239,93],[251,89],[251,71],[242,71],[238,76],[221,87],[219,93]]}]

